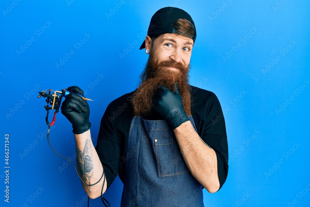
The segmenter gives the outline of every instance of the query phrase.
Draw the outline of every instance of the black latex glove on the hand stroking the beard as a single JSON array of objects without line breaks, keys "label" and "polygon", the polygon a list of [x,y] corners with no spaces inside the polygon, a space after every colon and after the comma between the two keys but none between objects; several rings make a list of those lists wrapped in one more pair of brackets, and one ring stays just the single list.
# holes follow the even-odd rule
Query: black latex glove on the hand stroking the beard
[{"label": "black latex glove on the hand stroking the beard", "polygon": [[158,89],[154,96],[153,106],[154,110],[168,122],[172,129],[189,120],[184,111],[177,84],[174,93],[165,86]]}]

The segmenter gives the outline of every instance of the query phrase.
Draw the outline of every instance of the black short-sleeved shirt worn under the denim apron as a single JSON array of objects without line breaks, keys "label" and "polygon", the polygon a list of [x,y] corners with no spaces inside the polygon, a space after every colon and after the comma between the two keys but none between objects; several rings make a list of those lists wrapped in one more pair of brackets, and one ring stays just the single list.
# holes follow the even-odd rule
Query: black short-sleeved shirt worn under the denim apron
[{"label": "black short-sleeved shirt worn under the denim apron", "polygon": [[[192,117],[198,135],[216,153],[220,188],[228,174],[228,143],[223,111],[213,92],[191,86]],[[134,117],[130,96],[127,93],[112,101],[101,119],[96,151],[104,166],[107,185],[110,187],[117,173],[123,181],[125,162],[130,158],[127,142],[131,120]],[[142,116],[146,120],[161,120],[151,112]]]}]

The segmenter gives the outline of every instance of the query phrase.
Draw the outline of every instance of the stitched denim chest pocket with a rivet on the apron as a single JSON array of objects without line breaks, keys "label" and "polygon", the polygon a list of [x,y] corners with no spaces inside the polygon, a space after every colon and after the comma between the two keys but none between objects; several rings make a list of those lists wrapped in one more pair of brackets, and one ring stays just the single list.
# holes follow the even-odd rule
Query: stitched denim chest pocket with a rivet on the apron
[{"label": "stitched denim chest pocket with a rivet on the apron", "polygon": [[188,173],[175,137],[155,139],[154,143],[159,177]]}]

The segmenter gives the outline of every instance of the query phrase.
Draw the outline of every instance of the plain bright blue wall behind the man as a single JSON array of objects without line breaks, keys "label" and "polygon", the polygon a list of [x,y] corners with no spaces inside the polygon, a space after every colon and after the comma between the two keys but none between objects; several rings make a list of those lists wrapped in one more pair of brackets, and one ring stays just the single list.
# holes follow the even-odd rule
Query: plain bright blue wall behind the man
[{"label": "plain bright blue wall behind the man", "polygon": [[[139,47],[152,15],[166,6],[184,9],[195,21],[190,83],[214,92],[224,110],[229,173],[220,191],[204,189],[205,205],[309,206],[310,2],[305,0],[2,0],[1,206],[87,206],[72,164],[48,146],[45,99],[38,99],[38,92],[71,85],[87,90],[86,97],[95,100],[89,105],[96,145],[107,105],[137,87],[148,58]],[[50,141],[75,163],[71,124],[61,113]],[[11,166],[10,203],[4,202],[4,166]],[[121,193],[117,177],[104,197],[119,206]],[[90,206],[103,205],[97,198]]]}]

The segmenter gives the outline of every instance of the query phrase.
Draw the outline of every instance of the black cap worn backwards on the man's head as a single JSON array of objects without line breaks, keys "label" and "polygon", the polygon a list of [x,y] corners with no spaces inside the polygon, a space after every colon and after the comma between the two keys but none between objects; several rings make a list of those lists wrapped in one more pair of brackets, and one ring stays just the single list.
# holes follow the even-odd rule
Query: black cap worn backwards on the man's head
[{"label": "black cap worn backwards on the man's head", "polygon": [[[175,33],[175,28],[173,25],[178,19],[186,19],[193,24],[195,32],[192,39],[195,43],[196,27],[192,17],[186,11],[176,7],[164,7],[155,12],[152,16],[150,25],[148,26],[148,36]],[[140,50],[143,48],[145,48],[145,40],[142,43]]]}]

